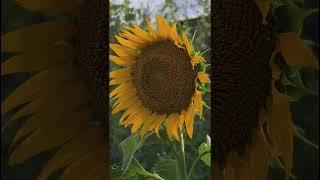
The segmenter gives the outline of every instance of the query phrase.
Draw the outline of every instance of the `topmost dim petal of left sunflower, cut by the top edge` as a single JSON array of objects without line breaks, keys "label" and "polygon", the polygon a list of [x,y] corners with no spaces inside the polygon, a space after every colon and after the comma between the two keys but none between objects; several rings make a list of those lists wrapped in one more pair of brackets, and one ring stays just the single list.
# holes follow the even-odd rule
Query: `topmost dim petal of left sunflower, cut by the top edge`
[{"label": "topmost dim petal of left sunflower, cut by the top edge", "polygon": [[80,10],[80,3],[77,0],[16,0],[16,3],[37,12],[76,13]]}]

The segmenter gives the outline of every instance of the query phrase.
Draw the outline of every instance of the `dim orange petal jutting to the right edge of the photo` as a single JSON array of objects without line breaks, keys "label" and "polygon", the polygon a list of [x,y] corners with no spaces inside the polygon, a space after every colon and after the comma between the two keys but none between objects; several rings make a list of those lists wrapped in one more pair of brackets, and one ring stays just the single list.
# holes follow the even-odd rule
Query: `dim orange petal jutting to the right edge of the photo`
[{"label": "dim orange petal jutting to the right edge of the photo", "polygon": [[281,33],[278,46],[280,53],[289,65],[319,68],[318,60],[312,50],[296,33]]}]

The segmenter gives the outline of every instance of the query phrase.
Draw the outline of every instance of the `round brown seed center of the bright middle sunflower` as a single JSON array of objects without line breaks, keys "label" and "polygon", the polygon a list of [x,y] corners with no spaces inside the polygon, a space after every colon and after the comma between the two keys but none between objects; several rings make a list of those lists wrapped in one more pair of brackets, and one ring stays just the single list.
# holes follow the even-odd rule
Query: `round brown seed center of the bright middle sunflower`
[{"label": "round brown seed center of the bright middle sunflower", "polygon": [[187,51],[170,40],[142,48],[132,74],[139,99],[153,112],[180,113],[191,102],[196,72]]}]

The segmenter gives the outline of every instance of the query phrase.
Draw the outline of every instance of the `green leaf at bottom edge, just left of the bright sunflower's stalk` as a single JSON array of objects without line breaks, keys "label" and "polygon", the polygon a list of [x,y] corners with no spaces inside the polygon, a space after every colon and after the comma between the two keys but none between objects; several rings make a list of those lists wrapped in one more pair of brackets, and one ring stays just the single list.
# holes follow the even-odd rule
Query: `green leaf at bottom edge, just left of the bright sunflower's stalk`
[{"label": "green leaf at bottom edge, just left of the bright sunflower's stalk", "polygon": [[164,179],[177,180],[177,162],[173,159],[166,159],[158,162],[155,172]]}]

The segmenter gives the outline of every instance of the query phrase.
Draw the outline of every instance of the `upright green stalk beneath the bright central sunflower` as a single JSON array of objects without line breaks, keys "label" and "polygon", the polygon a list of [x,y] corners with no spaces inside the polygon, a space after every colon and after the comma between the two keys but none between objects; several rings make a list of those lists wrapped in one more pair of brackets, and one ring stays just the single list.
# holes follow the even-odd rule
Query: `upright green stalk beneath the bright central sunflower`
[{"label": "upright green stalk beneath the bright central sunflower", "polygon": [[186,166],[185,152],[184,152],[183,132],[180,133],[180,138],[181,140],[180,142],[178,142],[178,148],[177,148],[178,179],[188,180],[187,166]]}]

